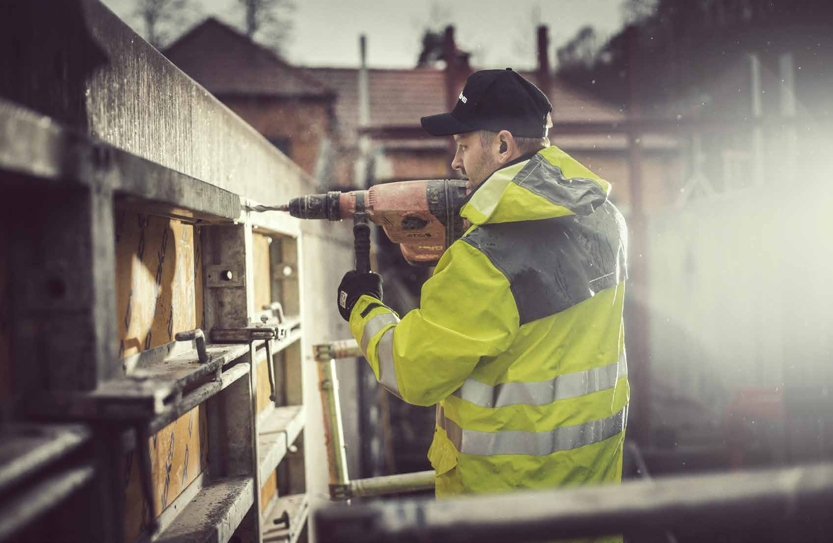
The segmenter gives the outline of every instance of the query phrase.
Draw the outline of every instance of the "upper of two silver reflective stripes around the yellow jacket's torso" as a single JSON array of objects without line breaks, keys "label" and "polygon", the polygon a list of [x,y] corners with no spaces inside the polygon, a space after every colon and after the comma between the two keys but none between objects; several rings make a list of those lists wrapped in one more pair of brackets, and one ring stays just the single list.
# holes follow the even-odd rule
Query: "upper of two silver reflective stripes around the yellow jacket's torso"
[{"label": "upper of two silver reflective stripes around the yellow jacket's torso", "polygon": [[510,382],[492,386],[469,377],[453,394],[481,407],[519,404],[546,406],[556,400],[613,388],[616,386],[616,380],[624,375],[627,375],[627,364],[623,351],[619,362],[586,371],[565,373],[550,381]]}]

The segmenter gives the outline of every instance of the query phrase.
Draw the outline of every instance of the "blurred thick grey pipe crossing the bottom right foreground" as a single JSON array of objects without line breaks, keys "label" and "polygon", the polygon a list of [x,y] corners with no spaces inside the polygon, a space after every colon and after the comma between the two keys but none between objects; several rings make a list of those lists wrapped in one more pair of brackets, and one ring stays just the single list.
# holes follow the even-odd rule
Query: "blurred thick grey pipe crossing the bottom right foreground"
[{"label": "blurred thick grey pipe crossing the bottom right foreground", "polygon": [[766,523],[795,526],[794,541],[800,541],[800,530],[830,532],[831,502],[833,463],[826,463],[442,501],[333,504],[315,519],[322,543],[531,543],[663,530],[682,534],[686,528],[737,533]]}]

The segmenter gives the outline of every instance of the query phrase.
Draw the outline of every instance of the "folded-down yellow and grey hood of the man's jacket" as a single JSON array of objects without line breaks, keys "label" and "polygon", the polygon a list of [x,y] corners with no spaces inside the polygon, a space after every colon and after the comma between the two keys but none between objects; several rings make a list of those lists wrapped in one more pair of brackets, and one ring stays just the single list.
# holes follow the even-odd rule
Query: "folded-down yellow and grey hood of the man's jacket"
[{"label": "folded-down yellow and grey hood of the man's jacket", "polygon": [[491,174],[461,207],[473,225],[590,215],[611,185],[556,146]]}]

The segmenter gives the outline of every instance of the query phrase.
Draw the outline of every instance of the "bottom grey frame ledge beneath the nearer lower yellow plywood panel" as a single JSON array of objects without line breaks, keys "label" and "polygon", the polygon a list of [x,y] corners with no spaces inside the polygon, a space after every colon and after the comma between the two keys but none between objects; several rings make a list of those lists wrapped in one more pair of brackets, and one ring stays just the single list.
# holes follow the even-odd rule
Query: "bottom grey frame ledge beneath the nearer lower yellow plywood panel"
[{"label": "bottom grey frame ledge beneath the nearer lower yellow plywood panel", "polygon": [[252,506],[252,486],[251,477],[212,481],[155,543],[226,543]]}]

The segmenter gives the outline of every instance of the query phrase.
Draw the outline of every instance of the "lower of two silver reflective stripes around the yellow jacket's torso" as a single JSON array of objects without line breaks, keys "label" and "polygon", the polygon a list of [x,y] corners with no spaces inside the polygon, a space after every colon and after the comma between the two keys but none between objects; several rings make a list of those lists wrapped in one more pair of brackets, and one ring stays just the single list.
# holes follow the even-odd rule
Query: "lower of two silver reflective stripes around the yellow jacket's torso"
[{"label": "lower of two silver reflective stripes around the yellow jacket's torso", "polygon": [[464,430],[455,421],[438,413],[440,427],[457,451],[466,455],[546,456],[605,441],[625,430],[627,406],[614,415],[576,426],[560,426],[551,431],[475,431]]}]

